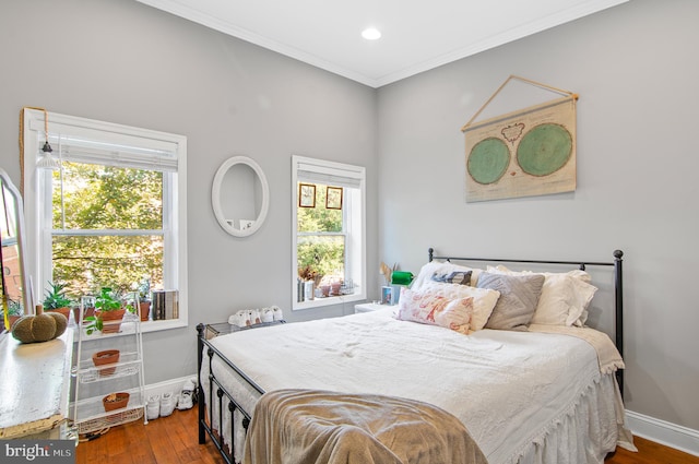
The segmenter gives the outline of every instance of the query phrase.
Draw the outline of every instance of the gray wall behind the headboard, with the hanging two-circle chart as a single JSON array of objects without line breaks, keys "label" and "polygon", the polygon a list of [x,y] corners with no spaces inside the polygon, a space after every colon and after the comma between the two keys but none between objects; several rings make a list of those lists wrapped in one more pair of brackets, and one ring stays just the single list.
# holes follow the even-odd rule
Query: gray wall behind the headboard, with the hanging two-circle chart
[{"label": "gray wall behind the headboard, with the hanging two-circle chart", "polygon": [[[699,2],[635,0],[379,90],[379,253],[626,252],[627,407],[699,429]],[[460,128],[510,75],[580,94],[578,188],[464,201]],[[556,95],[550,95],[555,98]]]}]

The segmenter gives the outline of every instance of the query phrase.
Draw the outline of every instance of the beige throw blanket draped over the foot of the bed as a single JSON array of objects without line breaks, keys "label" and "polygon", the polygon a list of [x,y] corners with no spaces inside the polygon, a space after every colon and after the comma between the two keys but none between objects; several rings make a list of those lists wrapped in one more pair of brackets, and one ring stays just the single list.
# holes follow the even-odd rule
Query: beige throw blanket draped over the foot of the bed
[{"label": "beige throw blanket draped over the foot of the bed", "polygon": [[487,464],[463,424],[426,403],[318,390],[264,394],[245,464]]}]

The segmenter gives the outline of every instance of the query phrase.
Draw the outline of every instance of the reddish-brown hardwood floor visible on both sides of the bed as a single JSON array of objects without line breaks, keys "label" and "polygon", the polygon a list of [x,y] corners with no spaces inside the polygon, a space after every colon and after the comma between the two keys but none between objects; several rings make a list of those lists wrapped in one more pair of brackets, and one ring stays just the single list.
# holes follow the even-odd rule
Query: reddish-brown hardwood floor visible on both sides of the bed
[{"label": "reddish-brown hardwood floor visible on both sides of the bed", "polygon": [[[617,452],[605,464],[699,464],[699,457],[666,448],[642,438],[635,439],[638,453]],[[175,411],[171,416],[134,421],[114,427],[76,449],[76,464],[218,464],[218,452],[206,440],[200,445],[197,433],[197,407]]]}]

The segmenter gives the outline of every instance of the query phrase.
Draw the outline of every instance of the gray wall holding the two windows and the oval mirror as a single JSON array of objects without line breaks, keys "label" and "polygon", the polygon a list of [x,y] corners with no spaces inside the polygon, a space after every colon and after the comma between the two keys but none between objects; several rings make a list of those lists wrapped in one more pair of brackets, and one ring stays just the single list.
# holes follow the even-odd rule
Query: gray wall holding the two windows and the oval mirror
[{"label": "gray wall holding the two windows and the oval mirror", "polygon": [[[289,308],[292,154],[366,166],[376,255],[376,91],[121,0],[2,1],[0,63],[0,166],[17,185],[23,106],[188,138],[190,326],[144,334],[146,383],[197,371],[197,323]],[[248,238],[224,233],[211,206],[216,169],[234,155],[256,159],[270,183],[266,223]]]}]

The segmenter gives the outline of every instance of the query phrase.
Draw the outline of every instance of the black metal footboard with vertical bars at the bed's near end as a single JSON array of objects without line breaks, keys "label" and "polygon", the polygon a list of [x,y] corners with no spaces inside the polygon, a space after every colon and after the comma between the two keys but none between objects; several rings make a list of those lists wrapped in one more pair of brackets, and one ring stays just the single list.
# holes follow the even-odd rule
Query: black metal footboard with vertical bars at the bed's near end
[{"label": "black metal footboard with vertical bars at the bed's near end", "polygon": [[[199,380],[199,443],[204,444],[206,442],[206,436],[211,438],[212,442],[218,450],[218,453],[227,464],[235,463],[235,437],[236,437],[236,420],[234,413],[238,412],[242,415],[242,427],[247,431],[250,424],[250,414],[240,405],[240,403],[233,396],[230,392],[216,378],[213,370],[214,358],[221,359],[233,371],[235,371],[240,379],[247,382],[252,389],[254,389],[260,395],[264,394],[264,390],[254,383],[248,376],[246,376],[240,368],[234,365],[228,358],[226,358],[218,349],[216,349],[205,336],[206,328],[204,324],[197,325],[197,367],[198,367],[198,380]],[[204,359],[204,347],[206,356]],[[204,389],[202,383],[202,366],[208,361],[209,366],[209,388]],[[214,408],[217,405],[217,411]],[[217,415],[218,428],[223,429],[224,424],[224,411],[230,415],[230,429],[229,435],[224,430],[216,431],[213,428],[211,418]],[[230,452],[226,449],[226,440],[229,440]]]}]

